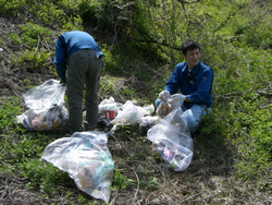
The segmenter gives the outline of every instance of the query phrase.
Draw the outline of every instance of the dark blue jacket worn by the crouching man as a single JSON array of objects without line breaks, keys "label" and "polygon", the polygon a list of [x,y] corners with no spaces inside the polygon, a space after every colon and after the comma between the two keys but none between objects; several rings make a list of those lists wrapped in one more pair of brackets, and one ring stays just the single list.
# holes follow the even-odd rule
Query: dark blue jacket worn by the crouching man
[{"label": "dark blue jacket worn by the crouching man", "polygon": [[211,68],[201,61],[189,72],[187,62],[182,62],[175,65],[175,70],[170,76],[165,91],[171,95],[178,91],[186,95],[188,100],[195,102],[184,101],[184,106],[189,109],[194,104],[206,105],[208,108],[212,104],[212,83],[213,71]]}]

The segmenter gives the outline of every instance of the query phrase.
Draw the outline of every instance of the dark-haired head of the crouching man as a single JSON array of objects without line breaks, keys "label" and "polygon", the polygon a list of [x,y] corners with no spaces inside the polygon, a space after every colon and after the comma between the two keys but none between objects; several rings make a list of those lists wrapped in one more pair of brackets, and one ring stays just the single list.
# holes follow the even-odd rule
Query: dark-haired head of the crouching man
[{"label": "dark-haired head of the crouching man", "polygon": [[198,64],[200,59],[200,46],[193,39],[185,40],[182,45],[183,58],[186,59],[189,70]]}]

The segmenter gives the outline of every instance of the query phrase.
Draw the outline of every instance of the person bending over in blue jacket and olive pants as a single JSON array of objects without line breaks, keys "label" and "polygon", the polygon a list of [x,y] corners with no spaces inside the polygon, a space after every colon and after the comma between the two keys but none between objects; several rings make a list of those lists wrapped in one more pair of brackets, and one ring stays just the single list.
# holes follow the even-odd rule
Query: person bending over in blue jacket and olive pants
[{"label": "person bending over in blue jacket and olive pants", "polygon": [[97,125],[98,88],[102,56],[103,53],[94,37],[85,32],[66,32],[57,39],[53,62],[61,80],[60,83],[67,85],[70,134],[84,130],[82,105],[85,85],[87,121],[85,130],[95,130]]}]

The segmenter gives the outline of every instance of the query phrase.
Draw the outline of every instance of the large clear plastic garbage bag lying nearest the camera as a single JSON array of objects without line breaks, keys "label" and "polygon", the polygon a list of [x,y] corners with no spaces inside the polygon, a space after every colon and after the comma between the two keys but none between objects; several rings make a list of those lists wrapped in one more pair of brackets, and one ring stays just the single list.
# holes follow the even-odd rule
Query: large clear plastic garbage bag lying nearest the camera
[{"label": "large clear plastic garbage bag lying nearest the camera", "polygon": [[107,143],[103,132],[75,132],[50,143],[41,158],[67,172],[79,190],[108,203],[114,162]]}]

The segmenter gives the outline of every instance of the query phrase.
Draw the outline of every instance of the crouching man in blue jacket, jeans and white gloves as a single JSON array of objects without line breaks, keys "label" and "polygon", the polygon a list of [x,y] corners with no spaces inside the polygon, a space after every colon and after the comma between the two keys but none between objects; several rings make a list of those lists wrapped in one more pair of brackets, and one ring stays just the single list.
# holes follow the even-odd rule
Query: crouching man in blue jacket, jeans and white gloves
[{"label": "crouching man in blue jacket, jeans and white gloves", "polygon": [[213,72],[199,60],[200,46],[197,41],[184,41],[182,52],[186,61],[175,65],[164,91],[156,100],[156,107],[162,101],[166,101],[172,108],[181,104],[181,117],[187,122],[190,133],[194,133],[201,119],[211,111]]}]

